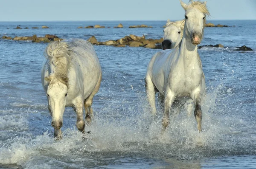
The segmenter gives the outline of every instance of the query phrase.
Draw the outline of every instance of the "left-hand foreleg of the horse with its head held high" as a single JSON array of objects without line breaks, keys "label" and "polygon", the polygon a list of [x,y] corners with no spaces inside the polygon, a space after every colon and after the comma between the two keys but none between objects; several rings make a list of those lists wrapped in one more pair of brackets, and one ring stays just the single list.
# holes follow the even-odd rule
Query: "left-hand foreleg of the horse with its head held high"
[{"label": "left-hand foreleg of the horse with its head held high", "polygon": [[164,98],[164,114],[163,114],[163,121],[162,121],[162,125],[163,125],[163,131],[166,130],[166,128],[169,126],[170,124],[170,108],[172,106],[173,101],[175,100],[175,95],[169,91],[166,92],[165,98]]}]

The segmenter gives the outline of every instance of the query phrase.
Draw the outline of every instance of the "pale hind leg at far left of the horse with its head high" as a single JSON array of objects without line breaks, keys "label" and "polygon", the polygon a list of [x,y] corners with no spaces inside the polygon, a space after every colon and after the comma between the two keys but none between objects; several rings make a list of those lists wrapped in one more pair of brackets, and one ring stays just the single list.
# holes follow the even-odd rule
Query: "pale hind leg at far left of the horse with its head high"
[{"label": "pale hind leg at far left of the horse with its head high", "polygon": [[148,103],[151,108],[151,113],[153,115],[156,114],[156,99],[155,99],[155,87],[150,77],[145,77],[145,87],[146,87],[146,94],[148,98]]}]

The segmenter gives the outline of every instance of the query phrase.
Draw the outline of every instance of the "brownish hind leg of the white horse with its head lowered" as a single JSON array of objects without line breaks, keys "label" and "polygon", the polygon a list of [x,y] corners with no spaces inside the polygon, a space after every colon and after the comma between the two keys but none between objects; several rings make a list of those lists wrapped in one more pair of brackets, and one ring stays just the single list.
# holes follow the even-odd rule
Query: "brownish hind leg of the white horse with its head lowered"
[{"label": "brownish hind leg of the white horse with its head lowered", "polygon": [[90,125],[92,122],[93,108],[91,106],[93,104],[93,97],[99,91],[101,81],[102,81],[102,73],[100,73],[100,75],[99,75],[99,80],[98,80],[93,92],[90,94],[90,96],[87,97],[87,99],[84,100],[85,120],[86,120],[87,125]]}]

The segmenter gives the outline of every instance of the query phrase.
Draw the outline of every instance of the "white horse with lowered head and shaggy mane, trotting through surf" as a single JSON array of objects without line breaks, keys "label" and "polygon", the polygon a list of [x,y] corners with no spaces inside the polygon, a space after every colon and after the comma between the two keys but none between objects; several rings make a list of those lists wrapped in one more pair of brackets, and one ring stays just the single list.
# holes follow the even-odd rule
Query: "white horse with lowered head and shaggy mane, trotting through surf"
[{"label": "white horse with lowered head and shaggy mane, trotting through surf", "polygon": [[73,107],[77,115],[76,127],[84,133],[83,107],[90,124],[93,96],[98,92],[101,80],[99,59],[90,42],[72,39],[55,41],[47,46],[41,82],[47,93],[55,137],[61,138],[65,107]]}]

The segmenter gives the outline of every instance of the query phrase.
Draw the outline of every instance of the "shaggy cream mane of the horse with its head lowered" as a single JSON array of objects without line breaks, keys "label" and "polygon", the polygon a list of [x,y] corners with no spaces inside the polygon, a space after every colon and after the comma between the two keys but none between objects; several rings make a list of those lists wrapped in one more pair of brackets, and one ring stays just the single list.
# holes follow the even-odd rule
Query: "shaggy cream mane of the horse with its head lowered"
[{"label": "shaggy cream mane of the horse with its head lowered", "polygon": [[55,41],[49,43],[45,49],[44,56],[54,65],[54,75],[64,85],[68,86],[68,71],[72,57],[71,49],[67,42]]}]

